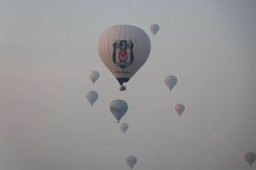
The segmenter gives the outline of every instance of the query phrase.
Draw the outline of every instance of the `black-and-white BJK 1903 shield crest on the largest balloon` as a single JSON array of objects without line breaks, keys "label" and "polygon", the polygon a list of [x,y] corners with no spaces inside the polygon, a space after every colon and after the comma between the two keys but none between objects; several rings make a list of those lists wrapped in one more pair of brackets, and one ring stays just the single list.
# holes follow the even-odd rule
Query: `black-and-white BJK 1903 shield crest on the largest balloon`
[{"label": "black-and-white BJK 1903 shield crest on the largest balloon", "polygon": [[133,43],[126,40],[115,40],[113,43],[113,62],[122,69],[132,65],[134,61]]}]

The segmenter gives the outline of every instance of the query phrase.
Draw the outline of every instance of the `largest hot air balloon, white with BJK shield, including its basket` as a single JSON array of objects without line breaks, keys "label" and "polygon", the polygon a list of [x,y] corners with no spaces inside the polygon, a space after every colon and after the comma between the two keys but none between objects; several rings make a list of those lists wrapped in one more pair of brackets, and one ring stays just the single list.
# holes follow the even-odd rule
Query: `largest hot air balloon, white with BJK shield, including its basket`
[{"label": "largest hot air balloon, white with BJK shield, including its basket", "polygon": [[98,40],[98,54],[119,81],[120,91],[126,89],[124,82],[128,82],[146,62],[150,49],[148,35],[132,25],[107,28]]}]

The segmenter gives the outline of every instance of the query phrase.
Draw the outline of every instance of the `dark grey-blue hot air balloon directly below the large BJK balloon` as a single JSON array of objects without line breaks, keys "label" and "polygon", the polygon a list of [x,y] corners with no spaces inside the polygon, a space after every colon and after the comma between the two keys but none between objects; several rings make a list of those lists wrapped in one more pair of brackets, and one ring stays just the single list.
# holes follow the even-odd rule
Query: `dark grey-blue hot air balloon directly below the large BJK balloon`
[{"label": "dark grey-blue hot air balloon directly below the large BJK balloon", "polygon": [[119,123],[120,119],[122,118],[122,116],[124,116],[127,110],[128,105],[122,99],[115,99],[110,103],[110,111],[117,119],[117,123]]}]

